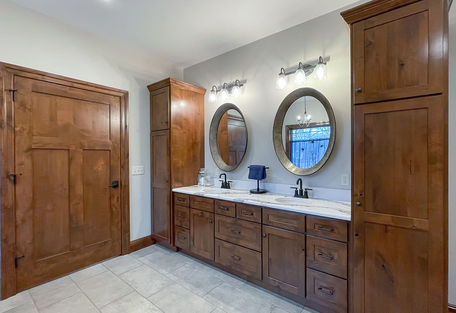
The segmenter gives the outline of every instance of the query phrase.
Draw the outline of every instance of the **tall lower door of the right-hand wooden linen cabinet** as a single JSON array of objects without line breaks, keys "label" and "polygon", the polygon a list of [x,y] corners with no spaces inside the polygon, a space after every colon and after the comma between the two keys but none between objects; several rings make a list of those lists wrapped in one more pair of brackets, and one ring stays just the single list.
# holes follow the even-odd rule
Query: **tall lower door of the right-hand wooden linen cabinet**
[{"label": "tall lower door of the right-hand wooden linen cabinet", "polygon": [[354,107],[354,312],[446,312],[445,96]]}]

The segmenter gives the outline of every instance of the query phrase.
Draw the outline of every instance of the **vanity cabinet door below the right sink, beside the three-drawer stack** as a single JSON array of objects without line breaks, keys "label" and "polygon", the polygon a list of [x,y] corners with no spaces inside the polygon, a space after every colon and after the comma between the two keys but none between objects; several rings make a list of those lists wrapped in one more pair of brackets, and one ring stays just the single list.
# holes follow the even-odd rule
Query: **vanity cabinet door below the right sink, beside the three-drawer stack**
[{"label": "vanity cabinet door below the right sink, beside the three-drawer stack", "polygon": [[306,296],[306,235],[263,226],[263,281]]}]

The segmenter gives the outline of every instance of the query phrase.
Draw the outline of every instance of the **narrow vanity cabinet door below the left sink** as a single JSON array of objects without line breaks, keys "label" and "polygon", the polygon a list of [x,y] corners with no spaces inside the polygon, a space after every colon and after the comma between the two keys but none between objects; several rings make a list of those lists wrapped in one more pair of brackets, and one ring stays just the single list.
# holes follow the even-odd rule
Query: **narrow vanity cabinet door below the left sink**
[{"label": "narrow vanity cabinet door below the left sink", "polygon": [[214,213],[190,209],[190,251],[214,260]]}]

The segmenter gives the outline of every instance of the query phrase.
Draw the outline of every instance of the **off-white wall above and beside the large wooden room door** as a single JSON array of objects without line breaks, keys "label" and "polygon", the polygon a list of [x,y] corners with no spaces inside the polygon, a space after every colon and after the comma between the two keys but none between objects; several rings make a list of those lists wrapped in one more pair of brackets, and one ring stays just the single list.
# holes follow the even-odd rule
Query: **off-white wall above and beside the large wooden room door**
[{"label": "off-white wall above and beside the large wooden room door", "polygon": [[150,235],[150,109],[147,85],[182,70],[0,0],[0,61],[129,91],[130,238]]}]

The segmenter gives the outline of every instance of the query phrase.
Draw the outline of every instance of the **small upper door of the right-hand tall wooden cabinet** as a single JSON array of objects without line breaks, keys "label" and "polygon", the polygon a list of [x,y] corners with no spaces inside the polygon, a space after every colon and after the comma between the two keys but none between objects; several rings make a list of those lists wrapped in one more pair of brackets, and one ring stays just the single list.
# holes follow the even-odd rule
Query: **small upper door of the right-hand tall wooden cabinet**
[{"label": "small upper door of the right-hand tall wooden cabinet", "polygon": [[355,104],[444,91],[442,2],[421,0],[353,24]]}]

